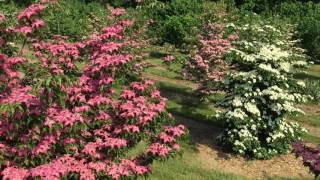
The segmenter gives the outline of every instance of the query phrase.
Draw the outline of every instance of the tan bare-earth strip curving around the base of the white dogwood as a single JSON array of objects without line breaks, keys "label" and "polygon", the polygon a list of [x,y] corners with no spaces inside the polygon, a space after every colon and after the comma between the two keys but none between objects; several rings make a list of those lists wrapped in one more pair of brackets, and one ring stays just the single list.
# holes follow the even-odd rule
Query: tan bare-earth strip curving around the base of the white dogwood
[{"label": "tan bare-earth strip curving around the base of the white dogwood", "polygon": [[302,159],[297,159],[292,153],[271,160],[247,160],[228,153],[216,145],[215,137],[221,129],[179,116],[176,119],[188,127],[191,141],[197,150],[197,158],[204,169],[233,173],[252,179],[268,177],[311,179],[313,177],[303,166]]}]

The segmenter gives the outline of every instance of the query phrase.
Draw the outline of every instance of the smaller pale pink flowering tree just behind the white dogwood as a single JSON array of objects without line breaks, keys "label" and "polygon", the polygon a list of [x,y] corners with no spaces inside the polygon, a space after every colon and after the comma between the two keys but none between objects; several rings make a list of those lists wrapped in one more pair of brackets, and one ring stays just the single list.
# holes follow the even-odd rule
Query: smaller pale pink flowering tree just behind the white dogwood
[{"label": "smaller pale pink flowering tree just behind the white dogwood", "polygon": [[210,92],[207,84],[221,81],[226,74],[228,66],[224,57],[237,35],[231,34],[225,38],[225,26],[221,24],[208,24],[205,30],[206,33],[199,36],[199,45],[190,61],[187,61],[183,74],[188,79],[198,81],[201,91]]}]

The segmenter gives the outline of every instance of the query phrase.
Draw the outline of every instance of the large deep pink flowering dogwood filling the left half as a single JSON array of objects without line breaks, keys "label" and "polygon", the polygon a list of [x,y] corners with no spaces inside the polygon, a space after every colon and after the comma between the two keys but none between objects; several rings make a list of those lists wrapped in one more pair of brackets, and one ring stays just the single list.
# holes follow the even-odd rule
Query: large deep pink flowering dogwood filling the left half
[{"label": "large deep pink flowering dogwood filling the left half", "polygon": [[[130,80],[135,60],[125,30],[132,22],[116,22],[83,42],[43,41],[33,32],[45,25],[38,17],[44,8],[22,11],[11,32],[30,38],[36,60],[0,53],[1,178],[137,177],[150,173],[154,159],[177,153],[185,127],[171,126],[154,82]],[[141,141],[144,152],[127,157]]]}]

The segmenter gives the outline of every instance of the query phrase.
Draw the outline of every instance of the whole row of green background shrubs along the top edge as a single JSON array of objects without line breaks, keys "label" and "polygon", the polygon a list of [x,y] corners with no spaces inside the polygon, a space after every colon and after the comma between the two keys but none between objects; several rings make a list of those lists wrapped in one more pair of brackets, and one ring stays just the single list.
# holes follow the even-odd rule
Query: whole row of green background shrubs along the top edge
[{"label": "whole row of green background shrubs along the top edge", "polygon": [[[6,1],[0,9],[16,24],[19,9],[34,2]],[[177,47],[192,47],[197,42],[200,27],[220,16],[221,7],[229,12],[253,11],[265,17],[289,20],[297,24],[301,46],[316,63],[320,62],[320,4],[319,1],[305,0],[227,0],[214,3],[206,0],[61,0],[59,5],[46,11],[48,22],[42,36],[52,34],[71,36],[76,41],[85,38],[89,32],[97,31],[108,22],[105,8],[107,4],[132,8],[129,14],[139,20],[151,19],[148,36],[158,44],[171,43]],[[138,5],[138,6],[137,6]],[[221,6],[221,7],[219,7]],[[215,9],[219,9],[219,13]],[[129,11],[130,12],[130,11]],[[231,13],[232,14],[232,13]]]}]

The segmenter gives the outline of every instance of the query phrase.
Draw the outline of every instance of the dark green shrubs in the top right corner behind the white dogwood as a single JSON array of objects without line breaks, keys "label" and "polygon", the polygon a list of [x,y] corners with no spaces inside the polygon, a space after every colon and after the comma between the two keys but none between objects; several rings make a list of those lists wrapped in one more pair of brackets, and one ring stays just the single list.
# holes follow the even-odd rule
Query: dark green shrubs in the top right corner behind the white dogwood
[{"label": "dark green shrubs in the top right corner behind the white dogwood", "polygon": [[320,1],[313,0],[234,0],[233,5],[265,16],[297,24],[301,46],[316,63],[320,62]]}]

